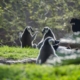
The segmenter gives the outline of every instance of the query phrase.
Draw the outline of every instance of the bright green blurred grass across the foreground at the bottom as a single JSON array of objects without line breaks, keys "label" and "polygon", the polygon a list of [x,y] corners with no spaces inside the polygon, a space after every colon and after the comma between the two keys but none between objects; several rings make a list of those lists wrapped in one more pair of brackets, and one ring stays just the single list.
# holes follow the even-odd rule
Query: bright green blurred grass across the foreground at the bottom
[{"label": "bright green blurred grass across the foreground at the bottom", "polygon": [[0,80],[80,80],[80,65],[1,65]]}]

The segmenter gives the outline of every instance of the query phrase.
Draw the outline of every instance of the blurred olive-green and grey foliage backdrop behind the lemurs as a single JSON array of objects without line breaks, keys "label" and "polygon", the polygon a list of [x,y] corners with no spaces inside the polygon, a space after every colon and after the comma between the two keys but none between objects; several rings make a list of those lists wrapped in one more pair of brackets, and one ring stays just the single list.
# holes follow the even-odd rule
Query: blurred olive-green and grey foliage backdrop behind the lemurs
[{"label": "blurred olive-green and grey foliage backdrop behind the lemurs", "polygon": [[60,39],[72,32],[72,17],[80,18],[80,0],[0,0],[0,45],[20,46],[19,33],[26,26],[49,26]]}]

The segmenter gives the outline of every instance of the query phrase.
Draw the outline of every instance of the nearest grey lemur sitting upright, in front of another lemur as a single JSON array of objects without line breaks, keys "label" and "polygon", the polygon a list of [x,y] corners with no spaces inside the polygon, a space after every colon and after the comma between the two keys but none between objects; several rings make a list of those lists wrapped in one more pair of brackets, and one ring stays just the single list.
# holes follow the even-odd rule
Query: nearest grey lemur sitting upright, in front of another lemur
[{"label": "nearest grey lemur sitting upright, in front of another lemur", "polygon": [[46,60],[49,58],[51,54],[58,57],[55,53],[55,50],[53,48],[53,44],[55,44],[55,40],[52,37],[47,37],[40,48],[40,52],[38,55],[38,58],[36,60],[37,64],[43,64],[46,62]]}]

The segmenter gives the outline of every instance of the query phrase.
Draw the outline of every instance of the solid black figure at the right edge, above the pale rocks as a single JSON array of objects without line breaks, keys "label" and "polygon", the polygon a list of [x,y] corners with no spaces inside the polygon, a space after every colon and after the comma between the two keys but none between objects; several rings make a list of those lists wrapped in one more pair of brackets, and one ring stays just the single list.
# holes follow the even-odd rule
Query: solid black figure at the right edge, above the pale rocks
[{"label": "solid black figure at the right edge, above the pale rocks", "polygon": [[80,31],[80,19],[72,18],[70,23],[72,24],[72,31],[73,32]]}]

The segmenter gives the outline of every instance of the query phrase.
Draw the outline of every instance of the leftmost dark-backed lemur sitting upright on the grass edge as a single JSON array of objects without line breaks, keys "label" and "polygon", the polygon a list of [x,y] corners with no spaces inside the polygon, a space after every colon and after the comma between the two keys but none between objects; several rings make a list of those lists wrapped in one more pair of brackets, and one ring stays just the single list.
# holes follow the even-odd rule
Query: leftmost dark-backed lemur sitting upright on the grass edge
[{"label": "leftmost dark-backed lemur sitting upright on the grass edge", "polygon": [[34,32],[34,30],[30,26],[28,26],[24,29],[23,34],[20,38],[22,48],[23,47],[32,47],[33,41],[36,38],[36,32],[34,35],[32,35],[31,32]]}]

